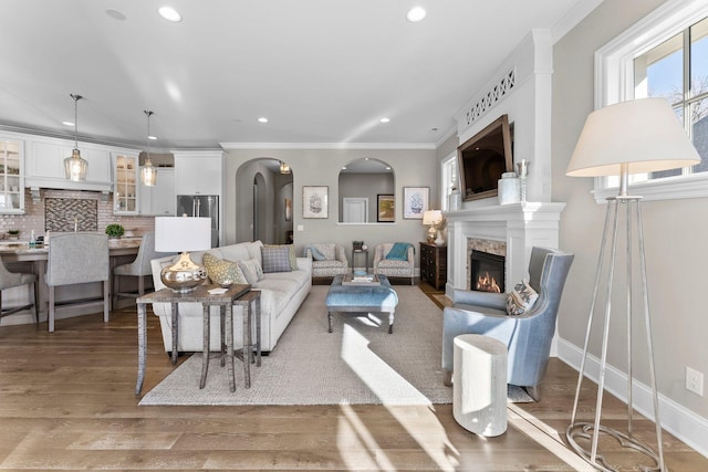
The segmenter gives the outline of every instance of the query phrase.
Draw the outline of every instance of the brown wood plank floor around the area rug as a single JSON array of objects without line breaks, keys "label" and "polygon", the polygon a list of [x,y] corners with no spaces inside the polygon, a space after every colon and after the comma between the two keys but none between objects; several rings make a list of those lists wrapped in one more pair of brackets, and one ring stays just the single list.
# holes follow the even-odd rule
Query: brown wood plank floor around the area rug
[{"label": "brown wood plank floor around the area rug", "polygon": [[[558,359],[542,400],[510,406],[507,432],[481,438],[455,422],[450,405],[138,407],[135,310],[101,318],[58,321],[53,334],[46,323],[0,327],[1,470],[590,470],[564,444],[577,376]],[[144,391],[173,370],[148,319]],[[607,418],[625,409],[606,397]],[[635,433],[653,443],[654,424],[639,419]],[[614,444],[606,451],[621,470],[645,462]],[[664,451],[671,471],[708,470],[668,433]]]}]

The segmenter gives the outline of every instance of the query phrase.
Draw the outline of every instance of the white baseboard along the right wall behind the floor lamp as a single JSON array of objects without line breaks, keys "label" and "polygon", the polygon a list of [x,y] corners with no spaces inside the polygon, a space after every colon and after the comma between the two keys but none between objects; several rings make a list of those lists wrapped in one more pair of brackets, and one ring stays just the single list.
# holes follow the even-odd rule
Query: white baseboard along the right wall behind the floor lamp
[{"label": "white baseboard along the right wall behind the floor lamp", "polygon": [[[559,338],[558,357],[575,370],[580,371],[583,349]],[[600,377],[600,359],[589,355],[585,360],[585,376],[597,382]],[[654,399],[652,388],[637,380],[632,381],[634,408],[654,420]],[[605,390],[627,402],[627,375],[614,366],[605,369]],[[663,396],[658,395],[662,428],[674,434],[698,453],[708,458],[708,420]]]}]

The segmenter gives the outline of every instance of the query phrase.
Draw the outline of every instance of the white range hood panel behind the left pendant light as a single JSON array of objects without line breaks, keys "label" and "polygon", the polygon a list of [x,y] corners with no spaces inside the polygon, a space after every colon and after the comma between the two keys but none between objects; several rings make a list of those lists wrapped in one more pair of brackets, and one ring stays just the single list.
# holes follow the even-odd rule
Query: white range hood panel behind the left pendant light
[{"label": "white range hood panel behind the left pendant light", "polygon": [[86,159],[86,180],[66,179],[64,159],[72,155],[74,141],[46,137],[32,137],[25,157],[24,186],[33,189],[55,188],[65,190],[95,190],[110,192],[113,188],[111,171],[112,148],[79,143],[81,157]]}]

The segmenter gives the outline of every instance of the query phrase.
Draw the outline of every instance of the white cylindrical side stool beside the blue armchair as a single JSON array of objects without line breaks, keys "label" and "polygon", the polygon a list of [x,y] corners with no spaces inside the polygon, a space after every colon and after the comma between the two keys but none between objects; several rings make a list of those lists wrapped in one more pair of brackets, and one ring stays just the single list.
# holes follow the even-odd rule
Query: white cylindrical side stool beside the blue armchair
[{"label": "white cylindrical side stool beside the blue armchair", "polygon": [[481,436],[507,431],[507,346],[477,334],[455,337],[452,416]]}]

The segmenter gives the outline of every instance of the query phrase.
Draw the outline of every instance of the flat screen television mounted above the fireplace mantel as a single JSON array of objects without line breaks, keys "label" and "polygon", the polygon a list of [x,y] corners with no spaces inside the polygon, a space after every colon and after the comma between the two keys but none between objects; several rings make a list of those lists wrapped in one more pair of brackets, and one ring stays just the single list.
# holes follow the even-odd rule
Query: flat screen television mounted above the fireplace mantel
[{"label": "flat screen television mounted above the fireplace mantel", "polygon": [[511,129],[502,115],[457,148],[462,200],[497,196],[503,172],[513,171]]}]

